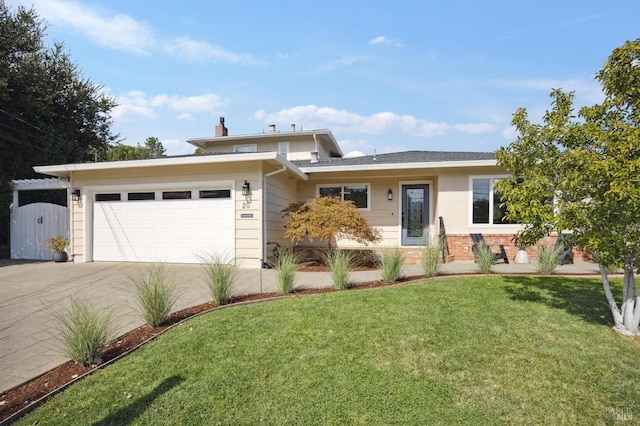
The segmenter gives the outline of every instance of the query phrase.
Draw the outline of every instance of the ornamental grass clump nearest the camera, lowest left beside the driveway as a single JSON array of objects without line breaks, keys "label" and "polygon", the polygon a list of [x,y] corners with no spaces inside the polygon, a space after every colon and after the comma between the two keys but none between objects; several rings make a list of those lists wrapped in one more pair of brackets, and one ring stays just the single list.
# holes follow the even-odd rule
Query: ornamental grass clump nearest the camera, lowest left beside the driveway
[{"label": "ornamental grass clump nearest the camera, lowest left beside the driveway", "polygon": [[100,363],[114,331],[113,310],[97,311],[88,302],[71,299],[66,311],[53,315],[64,354],[85,367]]}]

